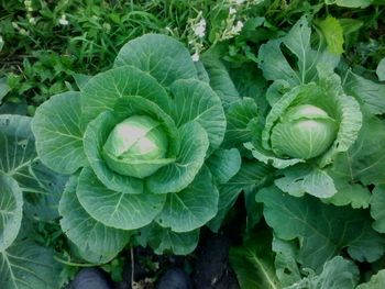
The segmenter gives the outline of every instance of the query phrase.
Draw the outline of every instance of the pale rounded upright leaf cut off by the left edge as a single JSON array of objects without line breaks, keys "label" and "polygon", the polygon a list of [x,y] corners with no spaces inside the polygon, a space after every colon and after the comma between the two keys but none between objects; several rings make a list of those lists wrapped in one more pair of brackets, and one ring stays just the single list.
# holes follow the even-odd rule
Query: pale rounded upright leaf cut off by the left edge
[{"label": "pale rounded upright leaf cut off by the left edge", "polygon": [[0,252],[16,238],[23,216],[23,193],[18,182],[0,175]]}]

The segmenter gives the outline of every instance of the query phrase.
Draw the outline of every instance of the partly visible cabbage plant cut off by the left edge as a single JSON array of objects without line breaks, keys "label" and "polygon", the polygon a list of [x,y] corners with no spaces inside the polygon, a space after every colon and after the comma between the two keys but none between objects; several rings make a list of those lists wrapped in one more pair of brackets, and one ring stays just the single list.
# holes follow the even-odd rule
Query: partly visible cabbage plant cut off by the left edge
[{"label": "partly visible cabbage plant cut off by the left edge", "polygon": [[0,287],[61,288],[62,266],[37,244],[34,225],[58,216],[67,178],[37,157],[31,118],[0,115]]}]

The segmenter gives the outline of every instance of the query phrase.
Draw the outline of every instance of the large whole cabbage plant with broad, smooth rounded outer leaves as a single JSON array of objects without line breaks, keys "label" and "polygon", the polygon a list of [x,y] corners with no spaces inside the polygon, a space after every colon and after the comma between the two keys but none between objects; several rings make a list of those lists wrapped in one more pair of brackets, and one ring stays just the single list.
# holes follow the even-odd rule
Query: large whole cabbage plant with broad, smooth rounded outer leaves
[{"label": "large whole cabbage plant with broad, smooth rounded outer leaves", "polygon": [[61,224],[90,262],[111,259],[135,230],[160,253],[193,251],[217,185],[240,167],[237,149],[220,148],[220,98],[164,35],[125,44],[112,69],[41,105],[32,129],[42,162],[72,175]]}]

